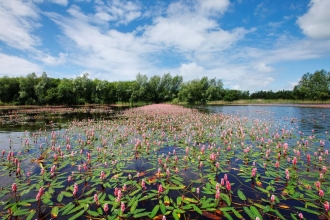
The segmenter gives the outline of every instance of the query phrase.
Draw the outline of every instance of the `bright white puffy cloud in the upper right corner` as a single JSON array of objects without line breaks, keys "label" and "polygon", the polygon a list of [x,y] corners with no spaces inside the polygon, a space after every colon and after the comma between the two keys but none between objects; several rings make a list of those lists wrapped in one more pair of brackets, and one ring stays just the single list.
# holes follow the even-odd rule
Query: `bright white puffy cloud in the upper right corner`
[{"label": "bright white puffy cloud in the upper right corner", "polygon": [[299,17],[297,24],[311,38],[330,38],[330,1],[311,0],[306,14]]}]

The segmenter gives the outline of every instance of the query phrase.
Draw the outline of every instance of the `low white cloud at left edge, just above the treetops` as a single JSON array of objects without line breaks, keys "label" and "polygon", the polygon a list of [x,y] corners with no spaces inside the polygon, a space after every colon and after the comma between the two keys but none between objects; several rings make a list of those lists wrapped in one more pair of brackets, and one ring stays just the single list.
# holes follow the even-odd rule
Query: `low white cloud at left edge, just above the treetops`
[{"label": "low white cloud at left edge, just above the treetops", "polygon": [[26,59],[0,53],[0,76],[22,76],[28,73],[41,73],[42,67]]}]

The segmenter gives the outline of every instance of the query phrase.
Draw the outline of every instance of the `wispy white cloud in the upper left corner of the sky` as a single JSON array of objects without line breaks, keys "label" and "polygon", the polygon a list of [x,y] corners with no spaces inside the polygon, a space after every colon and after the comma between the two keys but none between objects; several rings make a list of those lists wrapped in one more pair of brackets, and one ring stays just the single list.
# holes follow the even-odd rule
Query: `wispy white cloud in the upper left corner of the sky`
[{"label": "wispy white cloud in the upper left corner of the sky", "polygon": [[38,9],[31,2],[0,1],[0,40],[10,47],[32,50],[40,44],[32,32],[40,26]]}]

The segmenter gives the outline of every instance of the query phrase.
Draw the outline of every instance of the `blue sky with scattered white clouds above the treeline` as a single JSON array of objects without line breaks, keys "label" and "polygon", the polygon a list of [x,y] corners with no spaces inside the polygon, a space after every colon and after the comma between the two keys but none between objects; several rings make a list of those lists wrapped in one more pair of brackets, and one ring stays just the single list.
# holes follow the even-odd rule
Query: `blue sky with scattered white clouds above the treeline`
[{"label": "blue sky with scattered white clouds above the treeline", "polygon": [[0,76],[185,81],[292,89],[330,71],[329,0],[0,0]]}]

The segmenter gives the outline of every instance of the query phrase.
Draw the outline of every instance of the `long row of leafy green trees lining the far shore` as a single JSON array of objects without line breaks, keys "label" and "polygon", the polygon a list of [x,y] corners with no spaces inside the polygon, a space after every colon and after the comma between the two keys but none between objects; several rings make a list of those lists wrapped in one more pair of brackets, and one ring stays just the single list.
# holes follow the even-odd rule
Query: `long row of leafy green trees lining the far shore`
[{"label": "long row of leafy green trees lining the far shore", "polygon": [[13,105],[79,105],[123,103],[235,101],[240,99],[330,99],[330,72],[306,73],[293,90],[249,91],[224,89],[221,79],[194,79],[183,82],[182,76],[137,74],[134,81],[108,82],[90,79],[88,74],[75,79],[40,77],[0,78],[0,103]]}]

